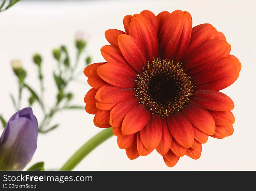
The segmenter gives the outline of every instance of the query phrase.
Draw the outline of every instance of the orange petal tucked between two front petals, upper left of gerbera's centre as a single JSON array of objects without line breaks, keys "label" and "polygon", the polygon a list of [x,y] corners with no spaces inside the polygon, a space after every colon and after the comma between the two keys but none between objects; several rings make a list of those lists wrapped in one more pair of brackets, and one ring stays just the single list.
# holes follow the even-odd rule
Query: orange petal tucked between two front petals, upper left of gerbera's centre
[{"label": "orange petal tucked between two front petals, upper left of gerbera's centre", "polygon": [[100,49],[100,52],[108,63],[127,64],[119,47],[105,45]]}]

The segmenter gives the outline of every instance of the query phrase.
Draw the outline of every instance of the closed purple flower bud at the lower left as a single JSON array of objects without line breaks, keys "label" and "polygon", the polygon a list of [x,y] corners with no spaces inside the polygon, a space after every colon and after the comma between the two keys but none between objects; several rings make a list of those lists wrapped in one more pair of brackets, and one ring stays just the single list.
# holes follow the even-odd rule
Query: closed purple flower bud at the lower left
[{"label": "closed purple flower bud at the lower left", "polygon": [[0,170],[22,170],[37,147],[38,122],[32,108],[17,111],[0,138]]}]

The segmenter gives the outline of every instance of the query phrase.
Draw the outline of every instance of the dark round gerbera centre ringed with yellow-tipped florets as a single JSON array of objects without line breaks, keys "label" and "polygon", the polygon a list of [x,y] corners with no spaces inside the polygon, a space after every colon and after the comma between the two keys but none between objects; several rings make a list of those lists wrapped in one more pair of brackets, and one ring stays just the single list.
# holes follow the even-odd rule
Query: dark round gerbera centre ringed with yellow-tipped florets
[{"label": "dark round gerbera centre ringed with yellow-tipped florets", "polygon": [[151,113],[167,116],[190,101],[193,84],[180,63],[154,59],[135,80],[136,97]]}]

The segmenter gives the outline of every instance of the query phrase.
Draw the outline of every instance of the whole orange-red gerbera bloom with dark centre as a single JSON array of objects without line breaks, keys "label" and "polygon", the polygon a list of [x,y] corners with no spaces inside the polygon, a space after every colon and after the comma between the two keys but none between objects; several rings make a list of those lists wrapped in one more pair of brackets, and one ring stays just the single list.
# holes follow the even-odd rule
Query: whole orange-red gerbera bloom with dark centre
[{"label": "whole orange-red gerbera bloom with dark centre", "polygon": [[184,155],[198,159],[209,135],[232,135],[234,103],[218,91],[236,81],[241,63],[223,33],[211,24],[192,28],[181,10],[127,15],[124,28],[105,32],[106,63],[84,69],[95,126],[113,126],[130,159],[156,149],[168,167]]}]

